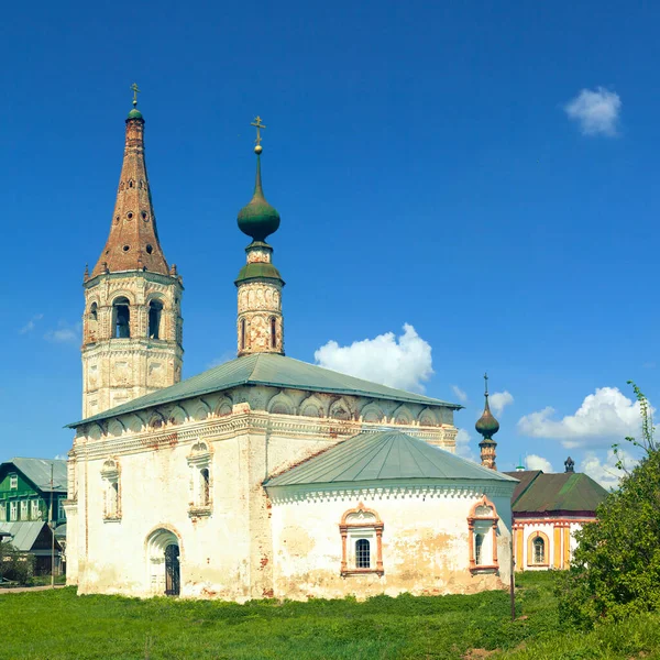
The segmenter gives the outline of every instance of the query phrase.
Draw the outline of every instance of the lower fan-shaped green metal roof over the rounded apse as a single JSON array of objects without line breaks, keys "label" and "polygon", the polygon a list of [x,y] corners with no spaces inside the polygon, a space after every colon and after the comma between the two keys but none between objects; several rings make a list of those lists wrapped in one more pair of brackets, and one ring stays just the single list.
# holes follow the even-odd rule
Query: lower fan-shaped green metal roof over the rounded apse
[{"label": "lower fan-shaped green metal roof over the rounded apse", "polygon": [[366,431],[334,444],[265,486],[391,481],[510,482],[516,480],[402,431]]}]

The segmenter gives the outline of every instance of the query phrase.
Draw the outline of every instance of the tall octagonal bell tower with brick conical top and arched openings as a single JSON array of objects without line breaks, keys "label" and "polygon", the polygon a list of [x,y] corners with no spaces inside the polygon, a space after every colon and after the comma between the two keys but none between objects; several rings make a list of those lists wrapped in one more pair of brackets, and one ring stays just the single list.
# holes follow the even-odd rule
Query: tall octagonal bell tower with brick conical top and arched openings
[{"label": "tall octagonal bell tower with brick conical top and arched openings", "polygon": [[178,383],[183,363],[184,290],[163,254],[144,158],[144,118],[125,120],[123,165],[106,246],[85,268],[82,416],[91,417]]}]

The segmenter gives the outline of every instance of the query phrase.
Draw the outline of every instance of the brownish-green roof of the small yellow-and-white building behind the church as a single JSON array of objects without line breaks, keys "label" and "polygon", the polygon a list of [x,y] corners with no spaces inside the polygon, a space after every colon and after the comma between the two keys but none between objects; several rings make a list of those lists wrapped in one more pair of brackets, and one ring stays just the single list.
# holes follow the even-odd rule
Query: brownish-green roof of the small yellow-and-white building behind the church
[{"label": "brownish-green roof of the small yellow-and-white building behind the church", "polygon": [[[519,479],[525,472],[510,472]],[[550,512],[594,512],[607,497],[607,491],[586,474],[562,472],[539,474],[532,479],[517,499],[513,501],[514,514]]]}]

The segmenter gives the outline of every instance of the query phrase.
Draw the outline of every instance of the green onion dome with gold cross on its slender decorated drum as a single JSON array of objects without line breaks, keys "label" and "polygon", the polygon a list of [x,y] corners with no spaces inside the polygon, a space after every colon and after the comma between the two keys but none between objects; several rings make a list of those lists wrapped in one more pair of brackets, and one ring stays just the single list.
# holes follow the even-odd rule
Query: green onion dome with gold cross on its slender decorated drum
[{"label": "green onion dome with gold cross on its slender decorated drum", "polygon": [[284,355],[284,317],[282,316],[282,288],[284,279],[273,265],[273,248],[266,239],[277,231],[279,213],[266,201],[261,180],[261,129],[256,127],[256,179],[250,204],[239,212],[239,229],[252,239],[245,248],[248,263],[235,280],[239,289],[239,356],[252,353]]}]

